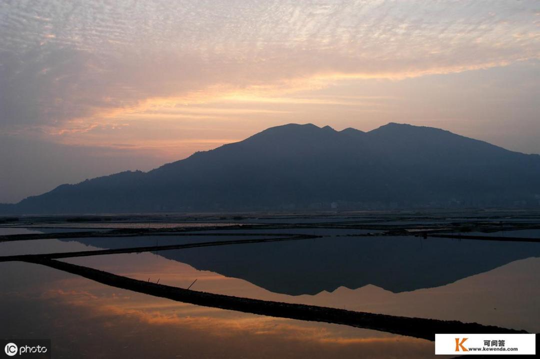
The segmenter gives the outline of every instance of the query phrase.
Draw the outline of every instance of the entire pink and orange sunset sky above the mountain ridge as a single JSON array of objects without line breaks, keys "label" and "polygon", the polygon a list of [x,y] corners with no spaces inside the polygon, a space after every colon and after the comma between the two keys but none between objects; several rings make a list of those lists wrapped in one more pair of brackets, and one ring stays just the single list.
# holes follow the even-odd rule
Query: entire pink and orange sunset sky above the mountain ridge
[{"label": "entire pink and orange sunset sky above the mountain ridge", "polygon": [[286,123],[540,153],[540,2],[0,0],[0,202]]}]

